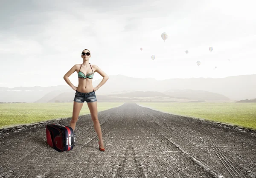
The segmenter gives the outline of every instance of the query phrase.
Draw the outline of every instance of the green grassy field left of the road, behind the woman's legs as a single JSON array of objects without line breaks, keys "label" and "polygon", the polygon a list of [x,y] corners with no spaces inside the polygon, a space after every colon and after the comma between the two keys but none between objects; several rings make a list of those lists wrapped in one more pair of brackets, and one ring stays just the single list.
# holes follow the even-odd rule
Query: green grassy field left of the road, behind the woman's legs
[{"label": "green grassy field left of the road, behind the woman's legs", "polygon": [[[97,102],[98,112],[123,103]],[[20,124],[72,117],[73,102],[70,103],[3,103],[0,104],[0,128]],[[90,114],[85,103],[80,115]]]}]

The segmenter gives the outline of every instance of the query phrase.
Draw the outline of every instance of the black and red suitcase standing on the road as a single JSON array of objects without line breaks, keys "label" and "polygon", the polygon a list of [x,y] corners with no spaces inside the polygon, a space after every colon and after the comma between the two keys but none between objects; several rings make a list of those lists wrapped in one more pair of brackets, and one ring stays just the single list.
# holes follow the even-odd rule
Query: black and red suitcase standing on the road
[{"label": "black and red suitcase standing on the road", "polygon": [[72,150],[75,146],[76,133],[72,127],[62,124],[47,124],[47,144],[58,152]]}]

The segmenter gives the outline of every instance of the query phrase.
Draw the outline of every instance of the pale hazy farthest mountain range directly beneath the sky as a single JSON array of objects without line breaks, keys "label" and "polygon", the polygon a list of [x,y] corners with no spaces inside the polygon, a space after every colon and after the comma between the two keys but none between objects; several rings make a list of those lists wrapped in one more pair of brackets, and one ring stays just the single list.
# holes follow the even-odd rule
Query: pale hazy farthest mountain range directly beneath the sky
[{"label": "pale hazy farthest mountain range directly beneath the sky", "polygon": [[[102,79],[93,81],[96,87]],[[256,74],[229,76],[225,78],[165,79],[134,78],[124,75],[109,76],[108,81],[97,90],[97,95],[124,96],[126,92],[159,92],[153,97],[196,100],[242,100],[256,98]],[[64,92],[75,92],[69,85],[51,87],[0,87],[0,102],[49,102]],[[120,95],[117,95],[120,94]],[[148,93],[130,93],[129,97],[139,97]],[[168,95],[168,96],[164,96]],[[149,97],[149,96],[145,96]]]}]

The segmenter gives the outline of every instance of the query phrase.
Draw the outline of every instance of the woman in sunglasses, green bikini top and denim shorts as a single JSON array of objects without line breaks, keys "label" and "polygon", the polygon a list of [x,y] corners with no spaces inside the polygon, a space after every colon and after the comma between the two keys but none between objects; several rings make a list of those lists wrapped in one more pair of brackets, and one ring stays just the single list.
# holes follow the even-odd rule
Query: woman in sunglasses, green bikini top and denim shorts
[{"label": "woman in sunglasses, green bikini top and denim shorts", "polygon": [[[105,82],[107,82],[108,75],[104,73],[97,65],[90,65],[89,59],[91,55],[89,50],[85,49],[82,51],[81,57],[83,58],[83,63],[74,65],[63,77],[67,84],[76,91],[73,104],[73,116],[70,121],[70,127],[75,130],[80,110],[84,104],[84,101],[86,101],[93,120],[94,130],[99,137],[99,150],[105,151],[102,139],[102,131],[98,120],[97,99],[95,91],[98,90],[103,84],[105,84]],[[78,73],[79,78],[77,87],[75,87],[68,79],[68,77],[75,71]],[[94,72],[98,72],[103,77],[102,81],[96,88],[93,88],[92,79]],[[85,75],[85,73],[87,74]]]}]

